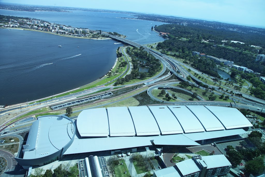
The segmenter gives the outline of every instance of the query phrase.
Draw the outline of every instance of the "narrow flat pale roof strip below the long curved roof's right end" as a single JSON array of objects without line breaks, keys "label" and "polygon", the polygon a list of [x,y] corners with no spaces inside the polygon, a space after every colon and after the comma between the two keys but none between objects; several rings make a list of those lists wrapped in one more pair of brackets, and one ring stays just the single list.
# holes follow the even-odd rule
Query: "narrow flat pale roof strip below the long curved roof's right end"
[{"label": "narrow flat pale roof strip below the long curved roof's right end", "polygon": [[219,138],[225,136],[240,135],[244,133],[247,132],[243,129],[232,129],[232,130],[218,130],[211,132],[187,133],[183,135],[193,141],[199,141],[199,140],[207,140],[207,139]]}]

